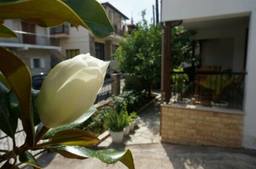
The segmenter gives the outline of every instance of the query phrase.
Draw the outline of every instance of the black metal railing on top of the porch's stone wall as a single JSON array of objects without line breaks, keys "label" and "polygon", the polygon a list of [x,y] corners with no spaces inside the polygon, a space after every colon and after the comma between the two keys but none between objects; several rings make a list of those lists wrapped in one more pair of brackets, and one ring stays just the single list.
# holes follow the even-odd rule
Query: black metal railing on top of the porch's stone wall
[{"label": "black metal railing on top of the porch's stone wall", "polygon": [[171,101],[243,109],[245,72],[171,72]]}]

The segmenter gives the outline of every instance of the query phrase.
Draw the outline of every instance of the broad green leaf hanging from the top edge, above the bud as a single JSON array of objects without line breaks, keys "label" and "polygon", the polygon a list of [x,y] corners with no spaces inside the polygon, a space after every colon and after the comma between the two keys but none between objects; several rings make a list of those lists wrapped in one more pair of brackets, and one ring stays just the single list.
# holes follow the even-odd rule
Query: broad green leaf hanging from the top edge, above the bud
[{"label": "broad green leaf hanging from the top edge, above the bud", "polygon": [[114,34],[115,30],[110,24],[106,11],[98,1],[63,0],[63,2],[78,14],[95,36],[103,38]]}]

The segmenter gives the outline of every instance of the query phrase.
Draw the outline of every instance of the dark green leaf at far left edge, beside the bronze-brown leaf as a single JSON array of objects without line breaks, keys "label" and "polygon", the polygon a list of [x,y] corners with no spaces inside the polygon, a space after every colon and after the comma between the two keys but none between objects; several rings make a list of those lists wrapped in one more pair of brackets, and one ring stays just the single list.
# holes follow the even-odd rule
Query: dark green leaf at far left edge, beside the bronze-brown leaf
[{"label": "dark green leaf at far left edge, beside the bronze-brown leaf", "polygon": [[8,108],[8,92],[8,89],[0,83],[0,129],[14,139],[18,125],[18,116],[11,113]]}]

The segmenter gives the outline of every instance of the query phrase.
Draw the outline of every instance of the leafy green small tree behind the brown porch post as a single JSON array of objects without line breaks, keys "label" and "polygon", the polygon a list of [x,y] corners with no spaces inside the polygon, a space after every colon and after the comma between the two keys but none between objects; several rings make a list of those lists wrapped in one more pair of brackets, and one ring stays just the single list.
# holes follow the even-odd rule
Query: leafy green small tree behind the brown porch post
[{"label": "leafy green small tree behind the brown porch post", "polygon": [[[116,60],[120,68],[128,74],[142,77],[147,81],[146,87],[150,95],[153,82],[161,79],[161,28],[148,24],[142,12],[142,21],[138,22],[136,31],[120,41],[116,50]],[[172,66],[178,68],[183,62],[192,62],[192,39],[194,33],[183,27],[172,29]]]}]

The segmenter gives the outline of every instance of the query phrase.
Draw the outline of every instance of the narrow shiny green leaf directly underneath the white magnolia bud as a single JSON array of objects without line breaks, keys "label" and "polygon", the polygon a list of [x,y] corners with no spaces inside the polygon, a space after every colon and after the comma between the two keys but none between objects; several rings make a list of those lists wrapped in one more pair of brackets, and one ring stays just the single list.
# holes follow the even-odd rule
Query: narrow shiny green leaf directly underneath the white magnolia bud
[{"label": "narrow shiny green leaf directly underneath the white magnolia bud", "polygon": [[[49,139],[52,138],[53,135],[55,135],[55,133],[58,133],[62,130],[69,130],[69,129],[74,129],[75,127],[79,126],[81,123],[84,123],[84,121],[86,121],[88,118],[90,118],[90,116],[93,115],[93,113],[96,112],[96,108],[95,107],[90,107],[90,109],[84,113],[84,115],[82,115],[81,117],[78,118],[78,120],[74,121],[73,123],[67,124],[65,126],[59,126],[53,129],[50,129],[45,136],[42,139]],[[42,124],[39,124],[39,129],[40,130],[42,127]],[[38,133],[38,132],[37,132]]]}]

